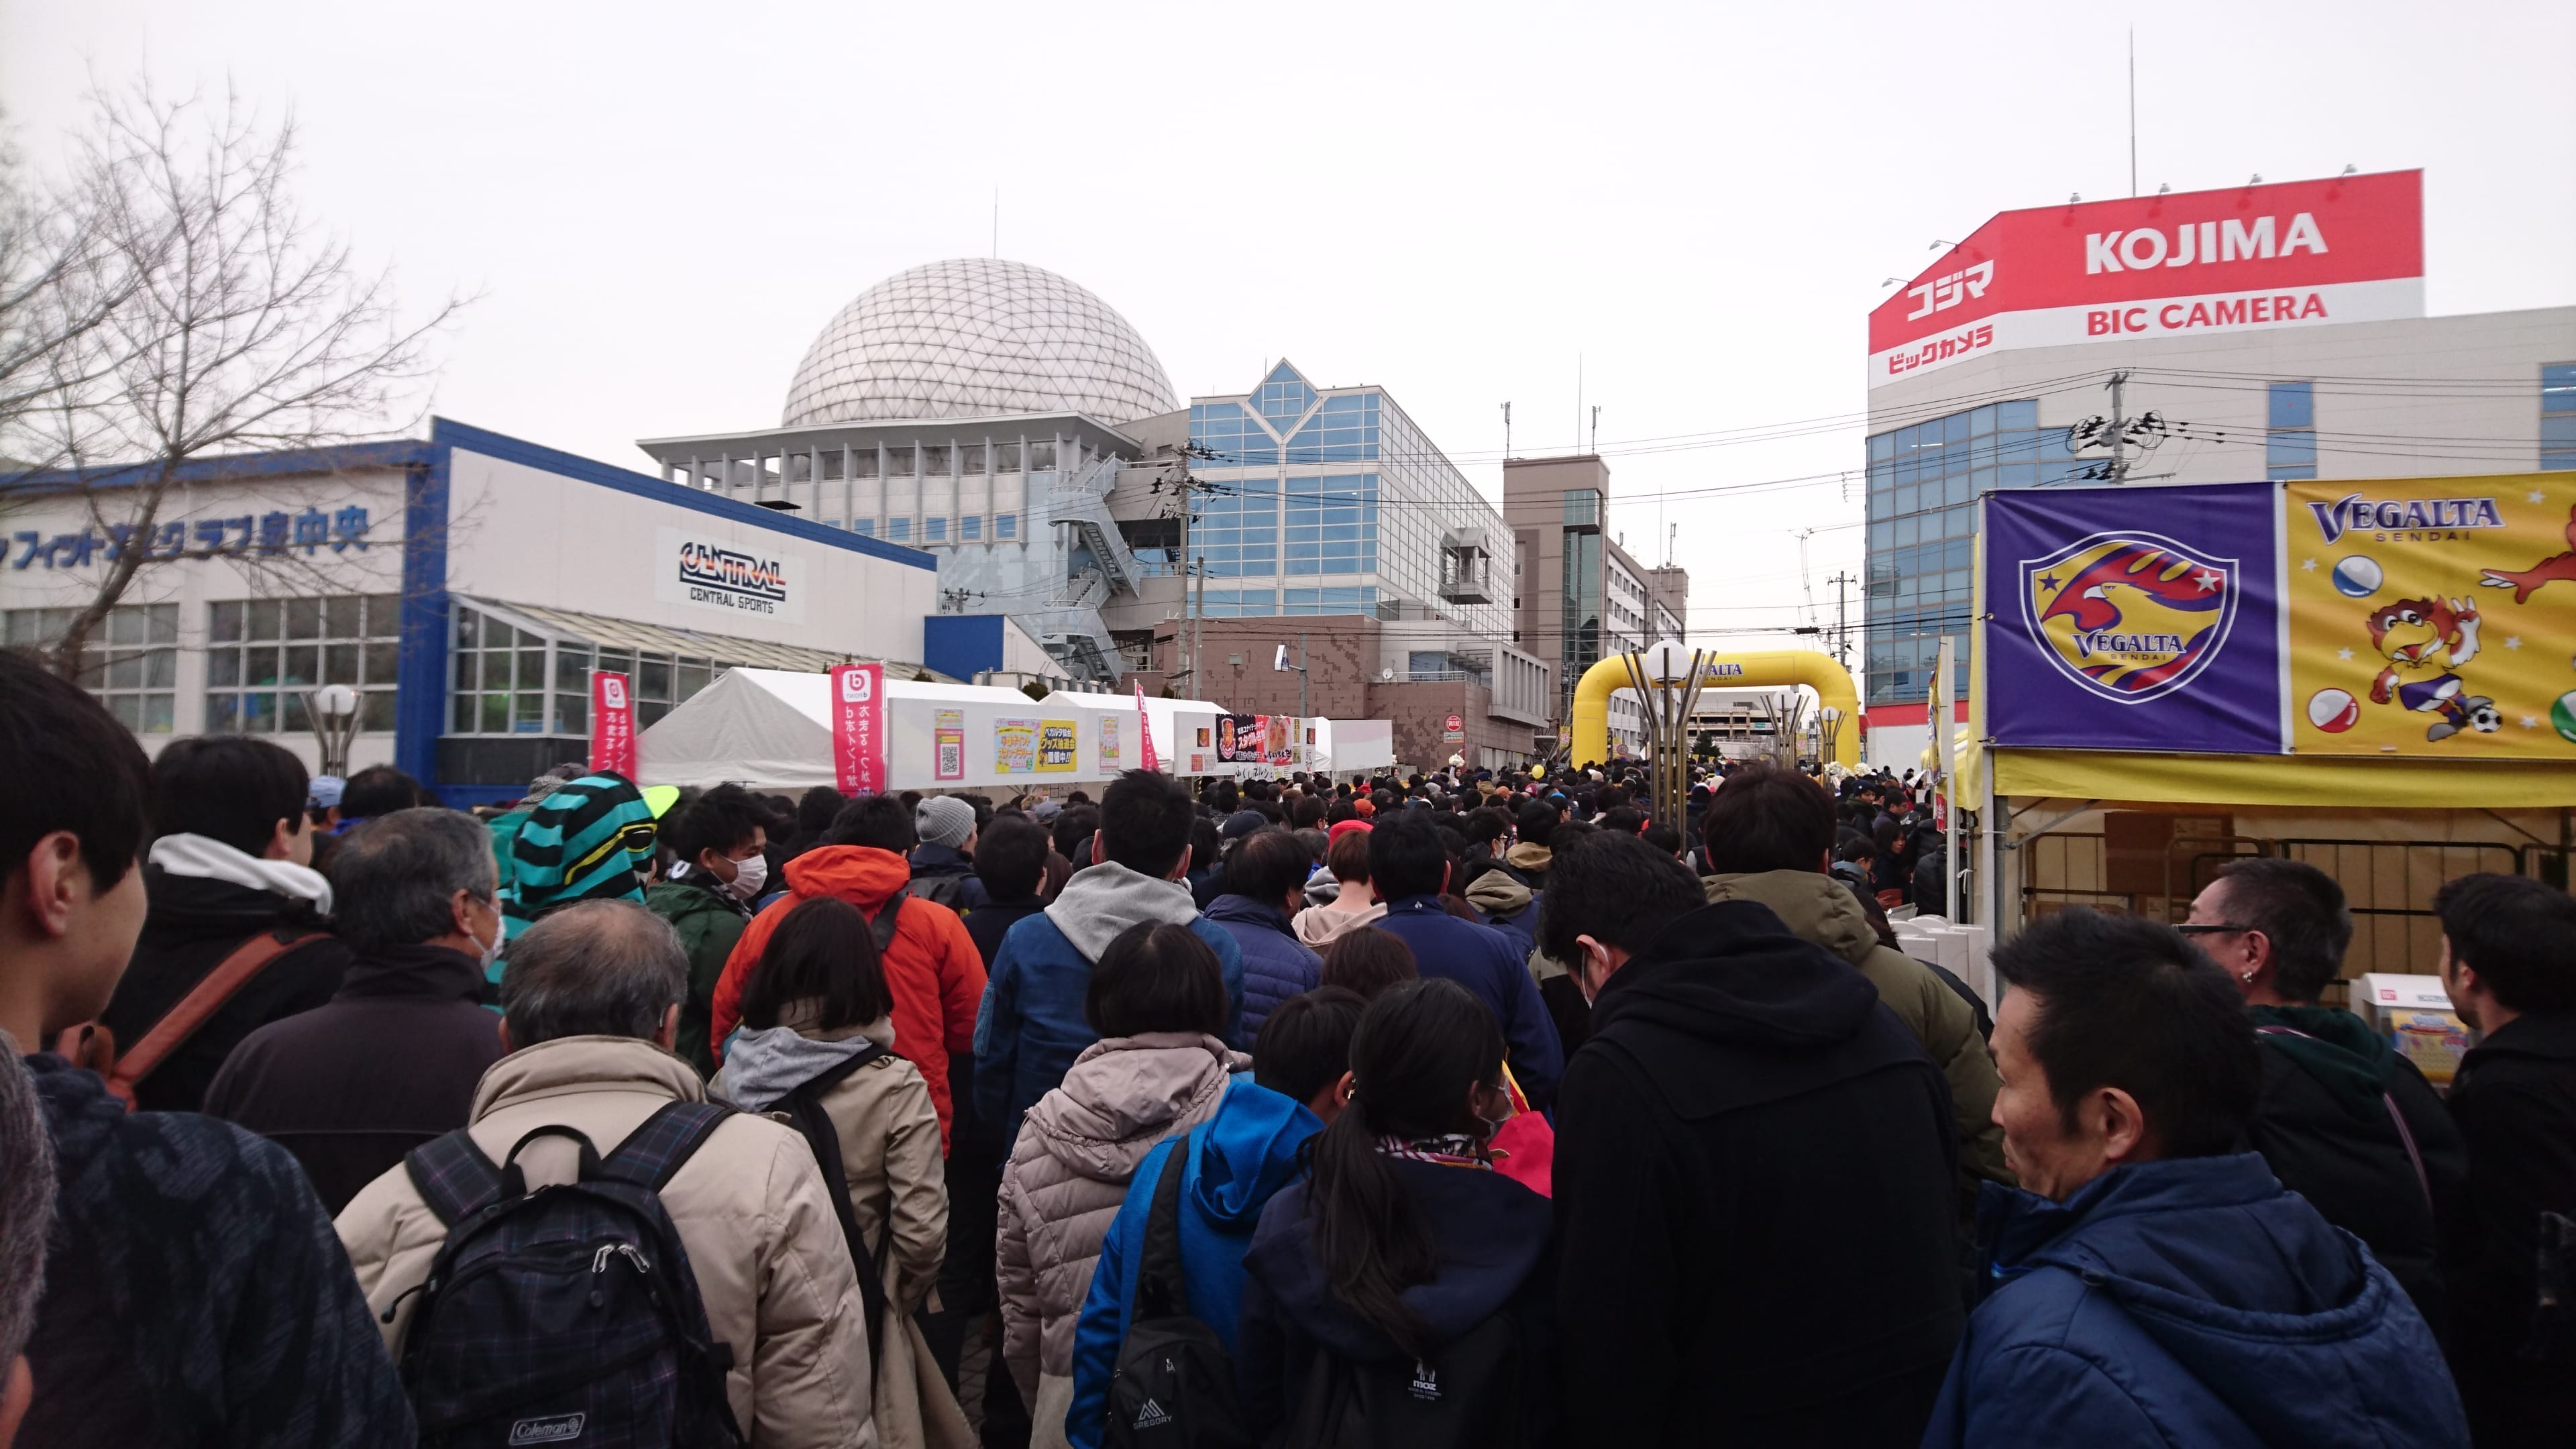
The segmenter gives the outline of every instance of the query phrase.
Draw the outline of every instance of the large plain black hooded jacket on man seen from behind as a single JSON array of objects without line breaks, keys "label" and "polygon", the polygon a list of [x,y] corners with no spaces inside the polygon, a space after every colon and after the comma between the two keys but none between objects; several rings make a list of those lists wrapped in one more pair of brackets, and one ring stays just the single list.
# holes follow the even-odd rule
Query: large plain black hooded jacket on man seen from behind
[{"label": "large plain black hooded jacket on man seen from behind", "polygon": [[1556,1104],[1574,1444],[1922,1439],[1960,1336],[1950,1085],[1767,908],[1674,920],[1602,987]]}]

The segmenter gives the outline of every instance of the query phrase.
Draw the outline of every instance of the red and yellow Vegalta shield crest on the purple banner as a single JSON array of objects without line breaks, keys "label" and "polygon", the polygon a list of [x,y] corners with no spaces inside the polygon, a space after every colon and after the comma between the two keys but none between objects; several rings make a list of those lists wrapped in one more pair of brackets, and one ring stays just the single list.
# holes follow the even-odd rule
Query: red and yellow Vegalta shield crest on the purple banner
[{"label": "red and yellow Vegalta shield crest on the purple banner", "polygon": [[2228,642],[2236,601],[2236,559],[2161,534],[2092,534],[2022,562],[2030,637],[2066,678],[2117,704],[2200,676]]}]

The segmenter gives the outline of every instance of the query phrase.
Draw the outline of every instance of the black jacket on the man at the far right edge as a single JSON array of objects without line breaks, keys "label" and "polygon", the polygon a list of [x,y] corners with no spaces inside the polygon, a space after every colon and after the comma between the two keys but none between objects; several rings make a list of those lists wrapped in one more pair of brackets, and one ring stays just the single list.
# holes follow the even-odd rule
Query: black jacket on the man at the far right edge
[{"label": "black jacket on the man at the far right edge", "polygon": [[2468,1140],[2470,1214],[2450,1315],[2470,1428],[2481,1446],[2576,1444],[2576,1333],[2550,1359],[2519,1359],[2537,1302],[2540,1214],[2576,1217],[2576,1011],[2514,1018],[2460,1057],[2450,1116]]}]

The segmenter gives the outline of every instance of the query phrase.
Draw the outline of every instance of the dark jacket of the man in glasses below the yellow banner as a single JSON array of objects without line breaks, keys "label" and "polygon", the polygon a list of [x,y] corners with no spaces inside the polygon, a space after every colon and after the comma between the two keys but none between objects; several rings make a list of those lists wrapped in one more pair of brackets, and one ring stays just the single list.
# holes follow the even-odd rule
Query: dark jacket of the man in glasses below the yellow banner
[{"label": "dark jacket of the man in glasses below the yellow banner", "polygon": [[[2442,1232],[2465,1217],[2468,1191],[2468,1145],[2442,1096],[2349,1011],[2257,1006],[2254,1029],[2264,1047],[2262,1098],[2246,1145],[2280,1186],[2367,1243],[2442,1338],[2450,1323]],[[2406,1119],[2403,1137],[2388,1116],[2391,1101]]]}]

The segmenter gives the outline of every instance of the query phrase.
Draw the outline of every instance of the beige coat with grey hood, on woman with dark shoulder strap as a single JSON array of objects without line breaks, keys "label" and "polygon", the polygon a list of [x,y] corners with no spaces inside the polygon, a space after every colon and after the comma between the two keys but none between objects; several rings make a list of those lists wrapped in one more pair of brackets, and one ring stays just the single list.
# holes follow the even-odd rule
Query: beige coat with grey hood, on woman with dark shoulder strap
[{"label": "beige coat with grey hood, on woman with dark shoulder strap", "polygon": [[[788,1021],[796,1021],[793,1016]],[[876,1372],[876,1439],[881,1449],[971,1449],[974,1428],[958,1408],[948,1379],[940,1377],[930,1343],[912,1312],[922,1307],[938,1287],[940,1258],[948,1253],[948,1181],[940,1160],[940,1114],[930,1106],[930,1088],[922,1070],[891,1052],[894,1021],[876,1018],[866,1026],[837,1031],[809,1029],[796,1021],[804,1042],[850,1042],[866,1036],[886,1055],[850,1073],[822,1098],[824,1114],[840,1137],[840,1168],[850,1186],[850,1217],[858,1222],[868,1250],[876,1253],[886,1287],[884,1359]],[[708,1096],[719,1096],[744,1111],[768,1111],[770,1096],[786,1080],[762,1083],[762,1034],[742,1031],[724,1055],[724,1070],[708,1083]],[[824,1057],[806,1062],[806,1070],[788,1067],[786,1075],[809,1080],[819,1075]],[[760,1091],[739,1093],[734,1078],[760,1083]]]}]

